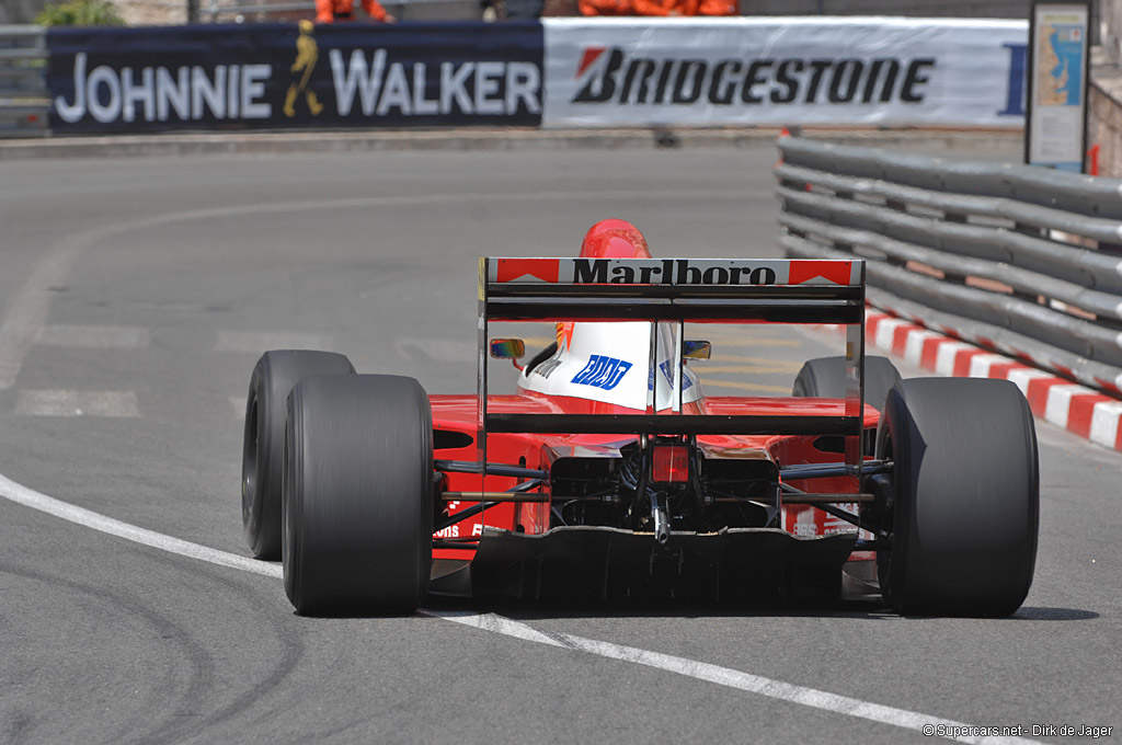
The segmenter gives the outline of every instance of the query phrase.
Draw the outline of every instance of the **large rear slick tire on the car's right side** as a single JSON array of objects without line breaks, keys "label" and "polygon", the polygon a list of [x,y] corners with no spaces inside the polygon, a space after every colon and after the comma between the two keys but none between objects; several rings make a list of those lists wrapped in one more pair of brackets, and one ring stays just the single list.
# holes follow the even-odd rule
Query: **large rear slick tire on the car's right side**
[{"label": "large rear slick tire on the car's right side", "polygon": [[[1040,512],[1037,438],[1008,380],[916,378],[889,393],[875,511],[881,591],[909,615],[1008,616],[1028,595]],[[877,481],[880,481],[877,484]]]}]

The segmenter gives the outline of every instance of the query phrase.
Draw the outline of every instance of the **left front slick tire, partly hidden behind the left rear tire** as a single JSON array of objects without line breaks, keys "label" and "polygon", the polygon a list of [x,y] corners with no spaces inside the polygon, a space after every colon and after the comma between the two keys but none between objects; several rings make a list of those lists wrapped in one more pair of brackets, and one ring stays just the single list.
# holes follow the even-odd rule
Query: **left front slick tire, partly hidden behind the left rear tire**
[{"label": "left front slick tire, partly hidden behind the left rear tire", "polygon": [[288,393],[309,375],[353,375],[333,352],[278,350],[261,355],[249,379],[241,445],[241,523],[258,559],[280,558],[280,481]]}]

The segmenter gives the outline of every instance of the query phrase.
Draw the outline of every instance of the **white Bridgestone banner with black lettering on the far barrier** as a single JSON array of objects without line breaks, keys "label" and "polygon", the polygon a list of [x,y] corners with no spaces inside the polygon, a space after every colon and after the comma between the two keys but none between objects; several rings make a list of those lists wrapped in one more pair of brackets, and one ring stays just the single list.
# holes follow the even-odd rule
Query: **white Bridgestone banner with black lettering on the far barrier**
[{"label": "white Bridgestone banner with black lettering on the far barrier", "polygon": [[1028,22],[543,19],[543,127],[1022,127]]}]

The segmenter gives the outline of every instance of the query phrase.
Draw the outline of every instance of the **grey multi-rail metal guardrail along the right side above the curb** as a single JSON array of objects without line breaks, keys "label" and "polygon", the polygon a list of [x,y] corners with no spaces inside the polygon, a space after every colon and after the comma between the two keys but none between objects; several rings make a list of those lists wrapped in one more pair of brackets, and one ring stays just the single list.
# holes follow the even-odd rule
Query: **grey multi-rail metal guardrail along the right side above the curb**
[{"label": "grey multi-rail metal guardrail along the right side above the curb", "polygon": [[788,255],[867,259],[874,305],[1119,394],[1122,181],[779,147]]}]

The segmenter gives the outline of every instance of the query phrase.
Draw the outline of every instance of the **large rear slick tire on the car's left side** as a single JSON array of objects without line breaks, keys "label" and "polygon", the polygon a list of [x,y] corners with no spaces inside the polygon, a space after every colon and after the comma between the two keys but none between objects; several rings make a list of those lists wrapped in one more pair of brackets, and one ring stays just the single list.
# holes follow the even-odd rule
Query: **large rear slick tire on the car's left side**
[{"label": "large rear slick tire on the car's left side", "polygon": [[304,378],[288,398],[284,585],[302,615],[407,615],[432,567],[432,408],[413,378]]}]

